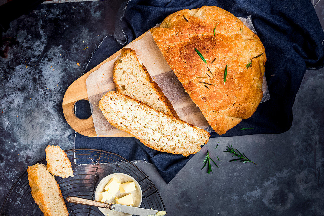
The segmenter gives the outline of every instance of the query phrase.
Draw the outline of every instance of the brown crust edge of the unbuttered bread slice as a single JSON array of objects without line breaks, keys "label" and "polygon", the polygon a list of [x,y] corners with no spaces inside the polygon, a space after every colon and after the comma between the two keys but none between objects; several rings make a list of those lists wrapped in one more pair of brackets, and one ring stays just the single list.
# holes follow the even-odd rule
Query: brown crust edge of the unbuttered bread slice
[{"label": "brown crust edge of the unbuttered bread slice", "polygon": [[[124,49],[121,50],[121,57],[115,61],[114,67],[113,67],[113,75],[112,75],[112,78],[113,78],[114,83],[115,83],[115,86],[116,86],[116,91],[118,91],[118,92],[122,92],[122,91],[119,88],[119,85],[117,85],[117,83],[116,83],[117,78],[116,78],[115,68],[120,63],[120,59],[124,55],[126,55],[127,53],[132,53],[133,56],[136,57],[137,61],[139,61],[139,59],[138,59],[138,57],[136,55],[136,52],[133,49],[131,49],[131,48],[124,48]],[[170,103],[170,101],[168,100],[168,98],[164,95],[163,91],[157,85],[157,83],[153,81],[152,77],[150,76],[150,74],[148,73],[146,67],[143,64],[142,64],[142,68],[143,68],[143,70],[145,71],[145,73],[147,75],[147,80],[146,81],[151,84],[152,89],[154,89],[156,91],[156,93],[160,96],[161,100],[166,104],[166,106],[168,108],[168,113],[167,114],[172,114],[175,118],[179,119],[179,116],[176,113],[176,111],[174,110],[172,104]]]}]

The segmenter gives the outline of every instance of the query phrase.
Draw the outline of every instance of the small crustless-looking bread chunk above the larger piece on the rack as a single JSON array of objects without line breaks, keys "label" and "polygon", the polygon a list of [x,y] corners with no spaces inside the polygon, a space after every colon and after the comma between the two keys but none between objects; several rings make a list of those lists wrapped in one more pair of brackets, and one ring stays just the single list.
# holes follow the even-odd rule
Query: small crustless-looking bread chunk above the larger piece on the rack
[{"label": "small crustless-looking bread chunk above the larger piece on the rack", "polygon": [[45,149],[47,169],[52,175],[58,175],[62,178],[68,178],[73,175],[70,160],[66,153],[59,146],[47,146]]}]

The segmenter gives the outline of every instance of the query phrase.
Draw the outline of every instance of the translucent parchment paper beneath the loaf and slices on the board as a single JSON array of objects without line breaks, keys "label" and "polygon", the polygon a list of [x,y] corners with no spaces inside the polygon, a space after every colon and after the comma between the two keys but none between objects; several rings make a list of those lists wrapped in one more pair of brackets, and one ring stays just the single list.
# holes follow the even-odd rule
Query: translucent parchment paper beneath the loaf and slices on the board
[{"label": "translucent parchment paper beneath the loaf and slices on the board", "polygon": [[[250,16],[248,19],[240,17],[239,19],[242,20],[244,25],[256,33]],[[148,73],[167,96],[181,120],[203,128],[208,132],[213,131],[202,112],[199,110],[196,104],[192,102],[190,96],[184,90],[181,82],[171,70],[170,66],[164,59],[158,46],[153,40],[150,32],[147,32],[141,40],[128,44],[126,47],[132,48],[136,51],[136,54],[143,62]],[[116,90],[112,79],[112,68],[114,62],[119,57],[120,56],[100,66],[99,69],[92,72],[86,80],[91,114],[97,136],[113,135],[121,132],[121,130],[109,124],[98,107],[98,102],[104,94],[106,94],[108,91]],[[263,98],[261,102],[269,100],[270,95],[265,77],[263,77],[262,91]]]}]

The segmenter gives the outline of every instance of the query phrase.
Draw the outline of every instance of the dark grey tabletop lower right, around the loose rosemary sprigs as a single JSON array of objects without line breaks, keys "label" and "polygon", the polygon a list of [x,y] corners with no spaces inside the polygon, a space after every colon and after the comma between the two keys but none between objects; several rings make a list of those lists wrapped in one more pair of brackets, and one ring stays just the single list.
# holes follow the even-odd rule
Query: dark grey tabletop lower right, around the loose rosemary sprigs
[{"label": "dark grey tabletop lower right, around the loose rosemary sprigs", "polygon": [[[324,215],[323,72],[306,72],[288,132],[214,138],[168,185],[151,168],[171,215]],[[231,143],[259,165],[228,162]],[[207,150],[214,174],[201,170]]]}]

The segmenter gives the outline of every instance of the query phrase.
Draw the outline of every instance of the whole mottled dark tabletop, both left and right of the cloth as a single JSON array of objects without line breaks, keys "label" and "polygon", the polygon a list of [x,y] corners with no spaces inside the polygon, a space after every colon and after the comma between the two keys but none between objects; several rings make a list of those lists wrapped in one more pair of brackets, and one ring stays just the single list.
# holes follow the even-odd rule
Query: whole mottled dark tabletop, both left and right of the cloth
[{"label": "whole mottled dark tabletop, both left and right of the cloth", "polygon": [[[41,5],[4,34],[9,48],[8,57],[0,58],[1,204],[47,145],[73,148],[64,92],[83,74],[98,41],[112,33],[118,4]],[[324,4],[316,9],[323,23]],[[324,215],[323,72],[306,72],[293,125],[284,134],[211,139],[168,185],[151,165],[137,163],[159,188],[168,215]],[[222,151],[230,143],[259,166],[228,162]],[[201,170],[207,149],[220,158],[214,174]]]}]

